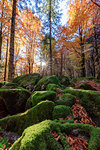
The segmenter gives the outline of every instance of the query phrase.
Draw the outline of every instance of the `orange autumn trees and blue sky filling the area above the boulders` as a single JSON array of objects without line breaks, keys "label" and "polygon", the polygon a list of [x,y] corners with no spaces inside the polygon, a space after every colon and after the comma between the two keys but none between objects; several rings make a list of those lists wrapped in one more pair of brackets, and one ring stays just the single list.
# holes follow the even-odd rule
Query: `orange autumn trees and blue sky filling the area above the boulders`
[{"label": "orange autumn trees and blue sky filling the area above the boulders", "polygon": [[99,0],[1,0],[0,80],[35,72],[100,78],[99,25]]}]

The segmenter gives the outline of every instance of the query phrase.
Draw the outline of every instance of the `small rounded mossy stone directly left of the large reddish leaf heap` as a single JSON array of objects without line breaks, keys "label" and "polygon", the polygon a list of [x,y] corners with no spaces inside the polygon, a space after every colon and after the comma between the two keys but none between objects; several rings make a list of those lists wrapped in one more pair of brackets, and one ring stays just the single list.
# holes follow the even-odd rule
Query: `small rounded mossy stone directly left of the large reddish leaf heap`
[{"label": "small rounded mossy stone directly left of the large reddish leaf heap", "polygon": [[53,119],[66,118],[71,112],[69,106],[57,105],[53,110]]}]

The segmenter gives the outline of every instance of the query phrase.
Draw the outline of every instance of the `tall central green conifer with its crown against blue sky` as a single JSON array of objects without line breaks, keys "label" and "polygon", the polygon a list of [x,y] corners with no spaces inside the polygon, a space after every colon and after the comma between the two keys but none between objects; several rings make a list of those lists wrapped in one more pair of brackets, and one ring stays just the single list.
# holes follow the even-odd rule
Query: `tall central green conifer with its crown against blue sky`
[{"label": "tall central green conifer with its crown against blue sky", "polygon": [[[44,24],[44,33],[49,34],[50,74],[52,75],[52,40],[55,25],[57,25],[60,13],[58,0],[36,0],[36,8]],[[57,26],[56,26],[57,28]]]}]

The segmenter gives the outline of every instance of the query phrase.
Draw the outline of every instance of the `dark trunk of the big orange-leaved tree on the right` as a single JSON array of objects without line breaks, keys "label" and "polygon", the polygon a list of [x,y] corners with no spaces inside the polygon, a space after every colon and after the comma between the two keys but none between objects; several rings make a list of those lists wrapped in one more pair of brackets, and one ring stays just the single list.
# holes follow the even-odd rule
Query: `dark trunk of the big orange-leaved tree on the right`
[{"label": "dark trunk of the big orange-leaved tree on the right", "polygon": [[80,35],[80,46],[81,46],[81,67],[82,67],[82,77],[85,77],[85,54],[84,54],[84,42],[82,38],[82,29],[79,27],[79,35]]}]

